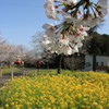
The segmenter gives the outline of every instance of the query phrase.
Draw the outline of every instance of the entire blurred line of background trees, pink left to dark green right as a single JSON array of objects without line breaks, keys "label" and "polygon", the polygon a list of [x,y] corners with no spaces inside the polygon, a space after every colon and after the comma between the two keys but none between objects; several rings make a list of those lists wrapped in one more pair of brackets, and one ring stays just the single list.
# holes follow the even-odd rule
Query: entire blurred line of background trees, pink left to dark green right
[{"label": "entire blurred line of background trees, pink left to dark green right", "polygon": [[[45,63],[44,68],[57,68],[59,61],[57,58],[58,55],[46,51],[41,44],[43,40],[43,33],[37,33],[32,37],[34,49],[27,50],[22,45],[10,45],[3,37],[0,37],[0,61],[14,62],[23,60],[26,65],[36,66],[36,59],[41,59],[43,63]],[[93,37],[85,40],[84,46],[80,49],[80,56],[78,53],[63,56],[62,66],[71,70],[83,69],[85,53],[109,56],[108,45],[109,35],[100,35],[95,32],[93,33]]]}]

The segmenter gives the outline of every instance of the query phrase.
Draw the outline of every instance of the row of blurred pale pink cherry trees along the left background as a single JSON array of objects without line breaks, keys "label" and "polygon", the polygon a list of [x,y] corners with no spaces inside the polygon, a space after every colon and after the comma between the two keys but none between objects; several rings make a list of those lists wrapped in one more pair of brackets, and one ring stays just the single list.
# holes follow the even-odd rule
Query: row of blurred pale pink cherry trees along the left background
[{"label": "row of blurred pale pink cherry trees along the left background", "polygon": [[36,59],[35,50],[28,50],[22,45],[11,45],[0,36],[0,63],[25,61],[33,62]]}]

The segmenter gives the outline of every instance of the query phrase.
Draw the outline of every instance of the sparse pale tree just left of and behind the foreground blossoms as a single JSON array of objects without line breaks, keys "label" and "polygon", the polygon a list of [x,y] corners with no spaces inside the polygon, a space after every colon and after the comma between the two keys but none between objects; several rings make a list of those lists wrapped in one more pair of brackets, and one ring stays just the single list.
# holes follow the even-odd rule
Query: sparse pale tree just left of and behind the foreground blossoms
[{"label": "sparse pale tree just left of and behind the foreground blossoms", "polygon": [[[32,36],[32,45],[36,53],[36,59],[41,59],[43,63],[49,64],[51,62],[52,53],[44,47],[45,45],[44,32],[38,32]],[[55,58],[55,57],[53,57]]]}]

